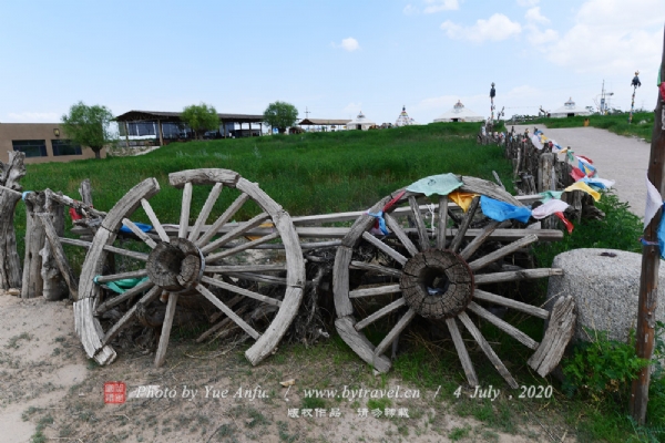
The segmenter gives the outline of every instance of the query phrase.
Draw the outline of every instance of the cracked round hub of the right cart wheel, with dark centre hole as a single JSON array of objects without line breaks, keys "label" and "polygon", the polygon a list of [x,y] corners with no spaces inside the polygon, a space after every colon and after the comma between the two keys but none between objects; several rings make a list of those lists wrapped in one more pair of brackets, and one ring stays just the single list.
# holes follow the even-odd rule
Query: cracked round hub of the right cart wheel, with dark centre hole
[{"label": "cracked round hub of the right cart wheel, with dark centre hole", "polygon": [[411,257],[399,280],[407,305],[437,320],[460,313],[473,297],[469,265],[450,250],[428,249]]}]

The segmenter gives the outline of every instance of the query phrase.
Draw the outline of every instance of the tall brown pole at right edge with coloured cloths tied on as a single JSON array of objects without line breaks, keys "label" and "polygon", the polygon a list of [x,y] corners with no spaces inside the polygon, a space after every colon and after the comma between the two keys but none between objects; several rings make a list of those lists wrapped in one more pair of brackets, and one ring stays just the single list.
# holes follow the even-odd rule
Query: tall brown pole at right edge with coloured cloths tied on
[{"label": "tall brown pole at right edge with coloured cloths tied on", "polygon": [[[663,58],[658,79],[665,80],[665,33],[663,38]],[[661,85],[658,85],[661,86]],[[658,102],[655,111],[654,130],[652,134],[651,155],[648,159],[647,178],[665,195],[665,89],[658,87]],[[640,276],[640,301],[637,307],[637,332],[635,334],[635,352],[638,358],[651,362],[654,352],[654,326],[656,322],[656,306],[658,303],[658,267],[661,257],[657,243],[657,229],[663,217],[658,209],[644,230],[646,245],[642,247],[642,274]],[[631,415],[644,424],[646,404],[648,402],[648,383],[651,367],[643,368],[637,379],[633,380],[631,392]]]}]

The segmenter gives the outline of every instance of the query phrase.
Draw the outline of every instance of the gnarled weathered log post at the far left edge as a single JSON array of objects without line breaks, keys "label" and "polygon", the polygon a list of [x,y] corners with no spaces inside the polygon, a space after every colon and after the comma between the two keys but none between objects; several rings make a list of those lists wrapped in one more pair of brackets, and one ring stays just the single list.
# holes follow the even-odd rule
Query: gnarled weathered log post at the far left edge
[{"label": "gnarled weathered log post at the far left edge", "polygon": [[21,287],[21,261],[17,253],[13,217],[21,199],[19,181],[25,175],[25,154],[9,153],[9,163],[0,161],[0,289]]}]

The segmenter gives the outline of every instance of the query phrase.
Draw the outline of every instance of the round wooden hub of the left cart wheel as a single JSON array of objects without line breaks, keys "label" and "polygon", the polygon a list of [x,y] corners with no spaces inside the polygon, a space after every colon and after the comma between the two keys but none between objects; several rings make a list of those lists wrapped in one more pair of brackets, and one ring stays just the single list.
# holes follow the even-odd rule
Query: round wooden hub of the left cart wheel
[{"label": "round wooden hub of the left cart wheel", "polygon": [[170,292],[186,291],[195,287],[205,268],[201,250],[184,238],[162,241],[147,257],[147,276],[151,281]]}]

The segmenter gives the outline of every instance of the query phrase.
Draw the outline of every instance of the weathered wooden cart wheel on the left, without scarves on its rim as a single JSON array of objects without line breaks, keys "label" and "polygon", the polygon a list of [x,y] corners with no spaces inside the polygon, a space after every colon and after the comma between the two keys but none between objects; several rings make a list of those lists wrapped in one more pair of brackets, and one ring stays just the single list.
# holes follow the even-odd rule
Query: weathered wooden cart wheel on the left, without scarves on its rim
[{"label": "weathered wooden cart wheel on the left, without scarves on its rim", "polygon": [[[180,224],[168,228],[157,218],[149,198],[160,192],[155,178],[147,178],[134,186],[109,212],[94,236],[81,271],[79,299],[74,302],[76,332],[85,352],[100,364],[111,363],[116,353],[110,346],[114,337],[130,324],[142,308],[161,296],[167,296],[162,333],[155,356],[155,365],[164,361],[168,337],[178,297],[198,293],[212,302],[237,327],[256,342],[245,352],[247,359],[257,364],[275,349],[290,326],[303,297],[305,266],[298,237],[289,215],[256,184],[227,169],[191,169],[168,175],[172,186],[183,188]],[[196,222],[188,226],[193,185],[214,185],[201,209]],[[224,187],[236,188],[239,196],[212,224],[205,227],[215,202]],[[229,228],[227,223],[248,200],[254,200],[263,210],[246,223]],[[156,235],[143,233],[130,220],[132,213],[142,206]],[[259,229],[250,241],[238,240],[259,225],[272,222],[273,229]],[[136,253],[113,246],[121,226],[132,230],[145,245],[150,254]],[[227,226],[224,226],[227,225]],[[264,225],[265,226],[265,225]],[[265,231],[268,231],[265,234]],[[253,234],[254,235],[254,234]],[[252,265],[236,264],[233,258],[246,254],[250,248],[280,240],[284,245],[286,264]],[[130,272],[104,275],[103,264],[109,254],[132,257],[139,269]],[[275,272],[286,277],[275,276]],[[147,277],[147,280],[116,297],[103,300],[99,284],[119,279]],[[93,281],[96,278],[96,284]],[[262,285],[277,285],[282,297],[267,297],[248,290],[239,281],[253,280]],[[248,324],[224,301],[213,293],[219,289],[236,297],[246,297],[265,303],[272,311],[269,324],[259,331]],[[104,330],[98,316],[126,300],[140,298],[122,318]]]}]

